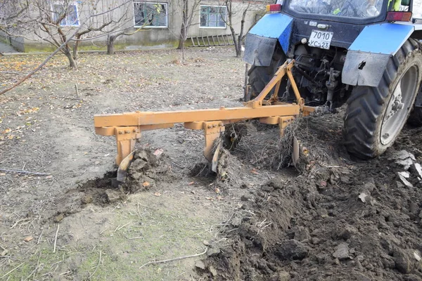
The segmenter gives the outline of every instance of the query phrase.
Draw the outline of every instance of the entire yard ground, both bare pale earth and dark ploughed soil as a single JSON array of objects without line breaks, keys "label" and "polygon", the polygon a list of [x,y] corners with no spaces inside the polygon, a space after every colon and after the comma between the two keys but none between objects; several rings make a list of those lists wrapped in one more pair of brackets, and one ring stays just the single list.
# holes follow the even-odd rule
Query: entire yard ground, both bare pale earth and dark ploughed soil
[{"label": "entire yard ground, both bare pale earth and dark ploughed soil", "polygon": [[[0,279],[422,280],[418,128],[361,161],[342,144],[344,108],[281,140],[247,122],[227,128],[216,175],[203,132],[177,124],[143,132],[115,187],[115,141],[95,134],[94,115],[241,105],[234,50],[186,55],[81,54],[76,72],[58,57],[0,96],[0,169],[39,173],[0,171]],[[1,57],[0,90],[45,57]]]}]

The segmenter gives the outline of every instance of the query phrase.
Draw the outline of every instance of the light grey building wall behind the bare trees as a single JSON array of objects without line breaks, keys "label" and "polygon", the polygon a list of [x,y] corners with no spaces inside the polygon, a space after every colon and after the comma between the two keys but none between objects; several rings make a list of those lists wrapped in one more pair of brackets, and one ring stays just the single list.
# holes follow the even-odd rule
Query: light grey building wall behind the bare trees
[{"label": "light grey building wall behind the bare trees", "polygon": [[[103,0],[101,2],[101,6],[97,7],[98,12],[102,13],[106,11],[110,7],[117,6],[117,2],[124,3],[124,0]],[[192,0],[193,1],[193,0]],[[192,5],[192,1],[190,4]],[[168,7],[167,11],[167,27],[143,27],[140,31],[130,35],[130,36],[121,36],[115,41],[115,49],[134,49],[134,48],[171,48],[177,46],[179,42],[179,34],[181,29],[181,7],[177,4],[178,1],[170,1],[170,0],[158,0],[158,1],[141,1],[141,2],[151,2],[151,3],[166,3]],[[234,1],[234,8],[233,10],[236,11],[234,13],[234,29],[236,33],[240,32],[241,30],[241,11],[243,11],[245,4],[243,1]],[[272,1],[271,1],[272,2]],[[203,0],[201,1],[201,5],[210,5],[210,6],[219,6],[222,1],[220,0]],[[83,5],[83,4],[82,4]],[[79,7],[79,22],[85,22],[86,18],[89,18],[89,11],[87,11],[86,6],[78,6]],[[255,22],[255,17],[257,14],[262,13],[265,6],[262,1],[257,1],[257,4],[253,4],[248,11],[246,16],[245,22],[245,30],[247,32],[248,29],[251,27],[252,24]],[[224,28],[203,28],[200,27],[200,11],[199,7],[195,13],[195,18],[193,19],[193,25],[190,27],[188,32],[188,37],[206,37],[212,35],[222,35],[222,34],[231,34],[230,29],[228,26]],[[125,29],[127,32],[135,32],[137,29],[134,28],[134,8],[133,5],[130,4],[127,8],[121,7],[116,9],[113,13],[113,18],[115,20],[124,18],[124,25],[120,28],[120,30]],[[94,22],[91,20],[91,26],[99,26],[103,22],[107,22],[110,20],[109,15],[103,15],[103,17],[96,17]],[[76,27],[65,27],[63,30],[67,32],[68,36],[75,31]],[[107,27],[110,28],[110,27]],[[81,46],[79,47],[81,50],[103,50],[106,48],[106,36],[100,37],[100,33],[98,33],[98,37],[94,39],[89,39],[87,41],[82,41]],[[46,34],[42,34],[41,36],[46,36]],[[91,37],[91,36],[90,36]],[[15,38],[13,39],[13,46],[18,48],[20,51],[25,52],[33,52],[33,51],[51,51],[55,47],[51,46],[51,44],[42,41],[39,37],[35,36],[34,34],[25,34],[25,39],[23,38]]]}]

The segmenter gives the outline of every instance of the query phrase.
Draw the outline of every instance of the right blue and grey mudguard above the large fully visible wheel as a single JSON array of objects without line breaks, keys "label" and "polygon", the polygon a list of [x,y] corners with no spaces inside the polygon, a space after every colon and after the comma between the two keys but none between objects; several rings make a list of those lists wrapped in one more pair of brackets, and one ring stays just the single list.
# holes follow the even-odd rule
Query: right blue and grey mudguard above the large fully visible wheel
[{"label": "right blue and grey mudguard above the large fully visible wheel", "polygon": [[366,26],[347,51],[343,84],[378,86],[388,60],[399,51],[412,32],[412,25],[382,23]]}]

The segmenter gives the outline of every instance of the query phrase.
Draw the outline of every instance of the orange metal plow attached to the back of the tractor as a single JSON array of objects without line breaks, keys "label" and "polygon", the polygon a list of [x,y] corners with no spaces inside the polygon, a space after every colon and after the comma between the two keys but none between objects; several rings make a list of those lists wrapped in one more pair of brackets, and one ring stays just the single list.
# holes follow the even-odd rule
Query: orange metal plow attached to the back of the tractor
[{"label": "orange metal plow attached to the back of the tractor", "polygon": [[[243,107],[220,107],[207,110],[184,110],[171,112],[129,112],[113,115],[95,115],[95,131],[103,136],[115,136],[117,142],[116,164],[120,169],[127,169],[137,138],[141,138],[142,131],[165,129],[176,123],[184,123],[186,129],[203,130],[205,134],[204,155],[209,162],[213,162],[213,170],[217,159],[212,154],[215,140],[224,132],[224,126],[249,119],[259,119],[264,124],[279,124],[280,134],[297,117],[307,116],[314,112],[314,107],[305,106],[300,97],[298,87],[291,69],[294,60],[284,63],[274,74],[259,96],[248,101]],[[296,103],[281,103],[277,93],[281,79],[287,75],[295,93]],[[272,89],[275,91],[269,100],[264,100]],[[217,148],[219,150],[219,148]],[[214,158],[214,159],[213,159]]]}]

